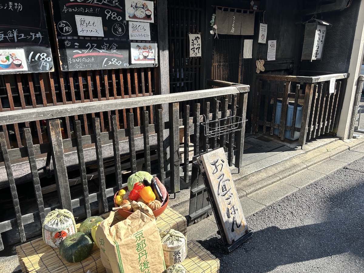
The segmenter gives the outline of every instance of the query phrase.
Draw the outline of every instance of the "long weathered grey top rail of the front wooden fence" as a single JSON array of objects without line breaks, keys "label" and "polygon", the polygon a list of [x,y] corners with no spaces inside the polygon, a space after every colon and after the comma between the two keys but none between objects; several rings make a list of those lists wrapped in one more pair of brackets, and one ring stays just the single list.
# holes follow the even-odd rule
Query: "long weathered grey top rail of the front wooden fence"
[{"label": "long weathered grey top rail of the front wooden fence", "polygon": [[149,106],[171,102],[183,102],[186,100],[210,98],[214,96],[225,96],[249,91],[249,86],[242,85],[234,87],[221,87],[206,90],[188,91],[176,94],[153,95],[138,98],[126,98],[116,100],[104,100],[102,102],[85,102],[59,106],[48,106],[37,109],[15,110],[0,113],[0,125],[8,123],[19,123],[32,120],[47,119],[50,116],[59,118],[89,114],[98,111],[113,111],[131,107]]}]

